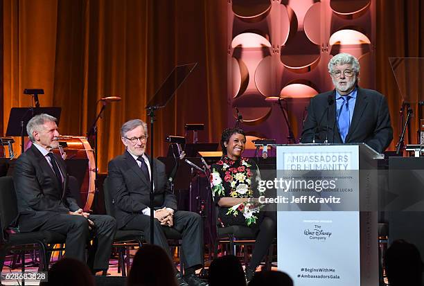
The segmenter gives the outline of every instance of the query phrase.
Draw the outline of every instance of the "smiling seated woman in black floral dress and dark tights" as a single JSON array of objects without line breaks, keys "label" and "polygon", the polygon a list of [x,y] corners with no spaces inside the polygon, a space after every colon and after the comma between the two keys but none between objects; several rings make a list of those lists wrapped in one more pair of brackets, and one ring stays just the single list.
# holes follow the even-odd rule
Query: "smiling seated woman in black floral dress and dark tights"
[{"label": "smiling seated woman in black floral dress and dark tights", "polygon": [[244,225],[254,228],[256,242],[246,278],[250,280],[263,260],[272,240],[276,237],[276,215],[260,212],[261,194],[257,188],[258,166],[252,159],[242,157],[245,150],[245,132],[228,128],[222,132],[222,158],[211,166],[211,189],[215,204],[219,206],[218,225]]}]

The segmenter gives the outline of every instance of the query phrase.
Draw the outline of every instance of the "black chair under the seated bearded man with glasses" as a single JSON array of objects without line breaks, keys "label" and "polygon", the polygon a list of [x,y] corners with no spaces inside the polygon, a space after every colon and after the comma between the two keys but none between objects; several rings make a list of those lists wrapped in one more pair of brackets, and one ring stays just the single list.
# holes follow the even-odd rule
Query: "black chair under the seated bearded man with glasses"
[{"label": "black chair under the seated bearded man with glasses", "polygon": [[[105,178],[105,181],[103,181],[103,194],[105,196],[105,209],[106,209],[106,213],[107,215],[111,215],[112,217],[115,217],[115,213],[114,213],[114,201],[110,195],[109,192],[109,186],[107,184],[108,179]],[[178,252],[179,252],[179,256],[180,256],[180,267],[181,269],[184,268],[183,262],[182,262],[182,257],[183,257],[183,253],[181,250],[181,244],[182,244],[182,234],[179,233],[178,231],[176,231],[173,228],[170,227],[166,227],[164,226],[164,233],[166,238],[168,239],[168,244],[170,245],[170,247],[177,247]],[[139,238],[140,240],[137,240],[136,238]],[[126,267],[127,267],[127,271],[130,269],[130,256],[129,256],[129,252],[128,252],[128,247],[133,247],[134,246],[134,241],[138,242],[139,247],[141,247],[141,244],[143,241],[145,241],[144,239],[144,232],[143,231],[139,231],[139,230],[118,230],[116,231],[116,235],[115,235],[115,243],[114,243],[114,247],[118,247],[118,253],[119,253],[119,258],[118,258],[118,263],[119,265],[122,265],[122,276],[126,276],[125,273],[125,262],[126,263]],[[123,249],[125,249],[126,251],[126,256],[124,255]],[[121,267],[118,265],[118,271],[120,271]]]}]

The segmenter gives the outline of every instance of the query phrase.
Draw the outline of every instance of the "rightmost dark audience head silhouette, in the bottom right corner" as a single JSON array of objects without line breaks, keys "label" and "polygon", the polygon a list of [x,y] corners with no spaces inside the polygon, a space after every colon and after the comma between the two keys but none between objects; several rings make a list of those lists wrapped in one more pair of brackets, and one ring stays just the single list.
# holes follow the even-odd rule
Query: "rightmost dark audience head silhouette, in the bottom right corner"
[{"label": "rightmost dark audience head silhouette, in the bottom right corner", "polygon": [[391,286],[421,286],[423,260],[414,244],[395,240],[386,251],[385,262]]}]

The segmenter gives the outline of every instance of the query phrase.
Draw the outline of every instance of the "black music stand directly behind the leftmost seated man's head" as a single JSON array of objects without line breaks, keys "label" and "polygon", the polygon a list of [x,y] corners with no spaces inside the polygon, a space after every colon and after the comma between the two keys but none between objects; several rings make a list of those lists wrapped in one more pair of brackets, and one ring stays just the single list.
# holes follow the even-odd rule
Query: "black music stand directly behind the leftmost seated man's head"
[{"label": "black music stand directly behind the leftmost seated man's head", "polygon": [[26,133],[26,125],[28,121],[38,114],[48,114],[60,120],[60,107],[12,107],[10,109],[8,129],[6,136],[20,136],[21,137],[21,154],[24,153],[24,136]]}]

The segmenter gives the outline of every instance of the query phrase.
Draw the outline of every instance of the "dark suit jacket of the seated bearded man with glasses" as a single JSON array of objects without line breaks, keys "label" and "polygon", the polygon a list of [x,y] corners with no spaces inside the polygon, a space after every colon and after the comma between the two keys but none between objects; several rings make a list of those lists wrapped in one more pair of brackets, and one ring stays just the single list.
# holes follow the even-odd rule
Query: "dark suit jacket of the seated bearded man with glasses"
[{"label": "dark suit jacket of the seated bearded man with glasses", "polygon": [[[148,157],[148,160],[151,158]],[[154,209],[166,207],[177,210],[177,199],[170,191],[165,165],[157,159],[153,162]],[[114,200],[116,223],[121,229],[144,208],[150,207],[150,182],[127,151],[109,162],[107,180]]]}]

